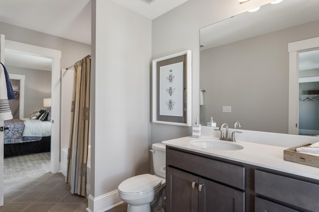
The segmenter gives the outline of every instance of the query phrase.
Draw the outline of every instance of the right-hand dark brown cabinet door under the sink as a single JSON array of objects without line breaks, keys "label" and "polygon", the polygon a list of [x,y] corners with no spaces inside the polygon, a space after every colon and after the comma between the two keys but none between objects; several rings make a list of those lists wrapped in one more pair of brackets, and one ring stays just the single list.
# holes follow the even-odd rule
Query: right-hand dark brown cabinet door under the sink
[{"label": "right-hand dark brown cabinet door under the sink", "polygon": [[244,212],[245,193],[214,183],[198,179],[199,212]]}]

